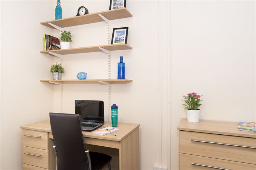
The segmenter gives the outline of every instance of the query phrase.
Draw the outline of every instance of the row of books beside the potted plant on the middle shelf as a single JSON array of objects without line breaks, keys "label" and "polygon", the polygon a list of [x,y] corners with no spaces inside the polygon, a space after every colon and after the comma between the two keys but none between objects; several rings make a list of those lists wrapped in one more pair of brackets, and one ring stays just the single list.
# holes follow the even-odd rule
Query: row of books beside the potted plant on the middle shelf
[{"label": "row of books beside the potted plant on the middle shelf", "polygon": [[43,40],[44,40],[44,51],[60,50],[60,39],[51,35],[44,34]]}]

